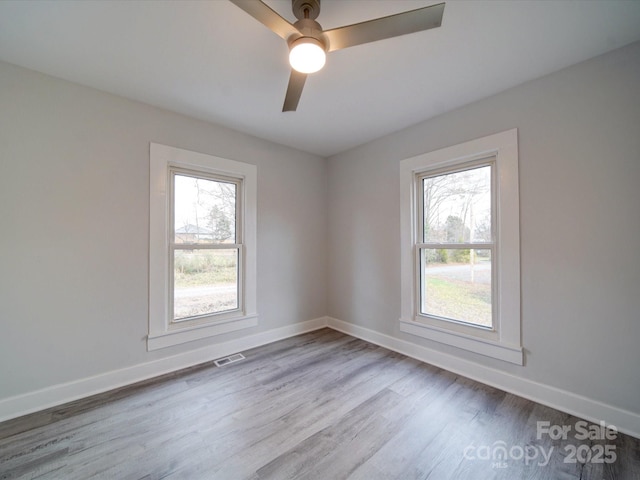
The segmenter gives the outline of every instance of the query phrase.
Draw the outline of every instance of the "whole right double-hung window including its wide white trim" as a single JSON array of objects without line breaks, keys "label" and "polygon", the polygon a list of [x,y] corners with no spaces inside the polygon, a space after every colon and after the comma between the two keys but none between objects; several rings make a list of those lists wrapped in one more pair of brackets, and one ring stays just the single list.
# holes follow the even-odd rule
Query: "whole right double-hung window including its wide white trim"
[{"label": "whole right double-hung window including its wide white trim", "polygon": [[521,365],[517,130],[400,170],[401,331]]}]

